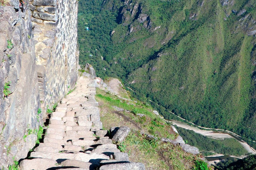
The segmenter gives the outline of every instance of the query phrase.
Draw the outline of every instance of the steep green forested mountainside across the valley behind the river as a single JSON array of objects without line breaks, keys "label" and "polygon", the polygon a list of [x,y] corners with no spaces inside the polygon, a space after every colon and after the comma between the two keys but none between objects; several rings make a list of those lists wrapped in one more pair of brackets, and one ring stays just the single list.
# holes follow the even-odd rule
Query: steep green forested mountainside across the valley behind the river
[{"label": "steep green forested mountainside across the valley behind the river", "polygon": [[[256,0],[79,1],[80,64],[256,148]],[[89,27],[89,30],[86,30]]]}]

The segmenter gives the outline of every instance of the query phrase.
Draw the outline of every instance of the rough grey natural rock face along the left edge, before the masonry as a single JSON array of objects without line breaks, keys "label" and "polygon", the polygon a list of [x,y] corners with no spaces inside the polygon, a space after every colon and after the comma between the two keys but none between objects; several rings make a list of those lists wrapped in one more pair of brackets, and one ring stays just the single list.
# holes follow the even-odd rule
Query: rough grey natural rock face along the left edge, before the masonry
[{"label": "rough grey natural rock face along the left edge, before the masonry", "polygon": [[[27,156],[37,139],[36,133],[28,135],[28,129],[38,129],[41,121],[37,121],[40,99],[30,11],[26,3],[20,8],[18,0],[10,5],[0,6],[1,167],[12,164],[13,157]],[[7,82],[9,92],[4,96]]]}]

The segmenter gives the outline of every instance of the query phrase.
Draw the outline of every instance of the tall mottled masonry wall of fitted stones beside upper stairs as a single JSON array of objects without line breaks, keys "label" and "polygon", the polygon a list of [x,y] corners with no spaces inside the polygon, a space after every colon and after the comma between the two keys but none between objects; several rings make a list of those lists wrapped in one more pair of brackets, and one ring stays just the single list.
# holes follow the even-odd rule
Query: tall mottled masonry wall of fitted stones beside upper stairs
[{"label": "tall mottled masonry wall of fitted stones beside upper stairs", "polygon": [[[41,108],[74,87],[78,76],[77,0],[29,2],[34,24]],[[45,110],[44,110],[45,111]]]}]

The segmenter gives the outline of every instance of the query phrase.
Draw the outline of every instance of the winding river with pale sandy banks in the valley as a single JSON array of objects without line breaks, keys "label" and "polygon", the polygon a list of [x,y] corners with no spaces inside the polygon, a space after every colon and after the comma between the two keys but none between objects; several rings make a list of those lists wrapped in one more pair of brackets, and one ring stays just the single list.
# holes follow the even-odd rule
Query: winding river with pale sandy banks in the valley
[{"label": "winding river with pale sandy banks in the valley", "polygon": [[[237,141],[239,141],[241,143],[241,145],[244,147],[244,149],[246,149],[248,151],[248,153],[252,153],[252,154],[256,154],[256,150],[252,147],[250,147],[250,145],[248,145],[248,143],[246,143],[245,141],[241,140],[235,133],[233,132],[229,132],[229,131],[226,131],[226,132],[220,132],[220,131],[213,131],[213,130],[201,130],[199,129],[198,127],[194,127],[194,126],[190,126],[186,123],[183,123],[183,122],[179,122],[179,121],[176,121],[176,120],[166,120],[167,122],[170,122],[178,127],[182,127],[182,128],[185,128],[185,129],[188,129],[188,130],[193,130],[194,132],[196,133],[199,133],[201,135],[204,135],[204,136],[208,136],[210,138],[213,138],[213,139],[225,139],[225,138],[234,138],[236,139]],[[200,127],[200,126],[199,126]],[[204,128],[204,127],[200,127],[200,128]],[[210,129],[210,128],[204,128],[204,129]],[[221,129],[216,129],[216,130],[221,130]],[[223,159],[234,159],[234,158],[239,158],[239,159],[242,159],[242,158],[245,158],[247,155],[242,155],[242,156],[233,156],[233,155],[222,155],[222,154],[215,154],[214,156],[206,156],[205,158],[207,159],[207,161],[209,161],[211,164],[214,164],[214,162],[219,162],[220,160],[223,160]]]}]

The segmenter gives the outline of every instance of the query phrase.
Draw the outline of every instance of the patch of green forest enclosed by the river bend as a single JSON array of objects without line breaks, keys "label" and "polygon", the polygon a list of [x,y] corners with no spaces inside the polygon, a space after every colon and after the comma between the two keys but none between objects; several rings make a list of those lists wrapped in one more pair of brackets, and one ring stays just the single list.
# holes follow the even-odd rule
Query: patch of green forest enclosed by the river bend
[{"label": "patch of green forest enclosed by the river bend", "polygon": [[[218,140],[195,133],[192,130],[187,130],[180,127],[176,127],[176,129],[179,132],[179,135],[183,137],[184,140],[187,140],[189,145],[197,147],[200,152],[214,151],[218,154],[235,156],[241,156],[248,153],[236,139],[227,138],[224,140]],[[207,156],[210,153],[203,152],[202,154]]]}]

